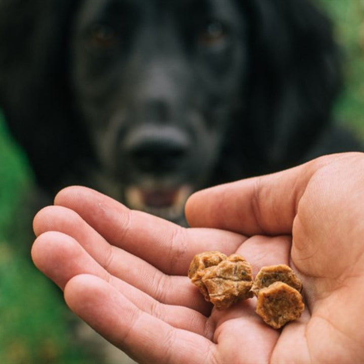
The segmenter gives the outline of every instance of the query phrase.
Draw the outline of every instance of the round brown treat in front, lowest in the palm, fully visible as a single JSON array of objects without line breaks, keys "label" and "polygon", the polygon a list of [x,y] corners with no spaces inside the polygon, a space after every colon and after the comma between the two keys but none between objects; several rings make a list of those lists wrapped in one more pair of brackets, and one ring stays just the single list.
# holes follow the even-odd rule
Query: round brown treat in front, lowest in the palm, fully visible
[{"label": "round brown treat in front, lowest in the palm, fully visible", "polygon": [[304,310],[301,294],[283,282],[262,288],[257,297],[256,313],[274,329],[298,319]]}]

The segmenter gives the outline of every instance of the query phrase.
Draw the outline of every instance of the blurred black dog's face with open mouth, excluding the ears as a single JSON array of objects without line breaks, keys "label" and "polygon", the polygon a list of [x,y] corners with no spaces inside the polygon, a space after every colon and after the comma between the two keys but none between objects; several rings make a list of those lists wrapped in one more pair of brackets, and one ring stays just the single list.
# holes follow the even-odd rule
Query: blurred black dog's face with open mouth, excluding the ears
[{"label": "blurred black dog's face with open mouth, excluding the ears", "polygon": [[114,197],[183,216],[244,103],[246,31],[226,0],[81,4],[71,32],[72,89],[98,177]]}]

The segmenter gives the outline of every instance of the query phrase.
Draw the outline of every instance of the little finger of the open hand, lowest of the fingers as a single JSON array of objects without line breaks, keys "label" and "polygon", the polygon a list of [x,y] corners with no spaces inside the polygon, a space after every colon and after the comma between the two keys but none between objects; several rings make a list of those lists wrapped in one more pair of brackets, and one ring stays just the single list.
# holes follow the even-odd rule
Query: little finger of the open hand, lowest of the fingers
[{"label": "little finger of the open hand, lowest of the fingers", "polygon": [[82,320],[137,361],[214,361],[215,345],[210,340],[156,319],[97,277],[74,277],[66,286],[65,299]]}]

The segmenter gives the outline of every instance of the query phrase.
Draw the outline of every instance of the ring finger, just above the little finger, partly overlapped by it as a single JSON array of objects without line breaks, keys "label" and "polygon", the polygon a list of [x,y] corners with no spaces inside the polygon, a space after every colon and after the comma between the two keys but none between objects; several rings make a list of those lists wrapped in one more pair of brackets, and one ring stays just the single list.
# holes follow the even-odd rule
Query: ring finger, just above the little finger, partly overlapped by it
[{"label": "ring finger, just above the little finger, partly overlapped by it", "polygon": [[[48,232],[40,235],[33,244],[32,257],[38,269],[62,290],[75,276],[93,275],[108,282],[139,309],[173,327],[201,335],[212,335],[205,330],[205,315],[182,305],[162,304],[141,290],[111,276],[73,238],[65,234]],[[193,301],[192,297],[190,301]],[[206,307],[206,303],[204,306]]]}]

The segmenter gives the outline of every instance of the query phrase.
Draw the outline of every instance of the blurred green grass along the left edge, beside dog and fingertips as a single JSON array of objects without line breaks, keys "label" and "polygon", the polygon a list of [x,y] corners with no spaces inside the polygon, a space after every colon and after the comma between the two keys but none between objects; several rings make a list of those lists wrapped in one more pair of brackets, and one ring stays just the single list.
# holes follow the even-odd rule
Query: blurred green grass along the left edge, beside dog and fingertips
[{"label": "blurred green grass along the left edge, beside dog and fingertips", "polygon": [[89,364],[87,353],[71,342],[58,289],[10,238],[10,222],[32,183],[27,160],[0,115],[0,363]]}]

